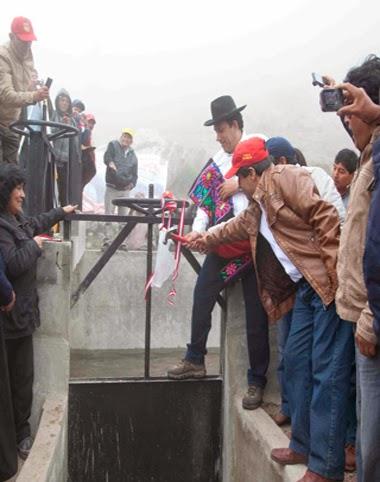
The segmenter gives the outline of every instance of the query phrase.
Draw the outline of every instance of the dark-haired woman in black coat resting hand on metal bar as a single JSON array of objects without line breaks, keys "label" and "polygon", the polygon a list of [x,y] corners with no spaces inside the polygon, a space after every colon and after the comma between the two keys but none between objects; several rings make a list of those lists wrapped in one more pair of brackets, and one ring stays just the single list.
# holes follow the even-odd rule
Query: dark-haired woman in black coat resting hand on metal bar
[{"label": "dark-haired woman in black coat resting hand on metal bar", "polygon": [[37,296],[37,260],[47,232],[75,206],[52,209],[35,217],[22,213],[25,178],[14,164],[0,166],[0,252],[16,294],[12,310],[0,311],[11,389],[16,442],[20,457],[32,446],[29,417],[33,397],[32,334],[40,324]]}]

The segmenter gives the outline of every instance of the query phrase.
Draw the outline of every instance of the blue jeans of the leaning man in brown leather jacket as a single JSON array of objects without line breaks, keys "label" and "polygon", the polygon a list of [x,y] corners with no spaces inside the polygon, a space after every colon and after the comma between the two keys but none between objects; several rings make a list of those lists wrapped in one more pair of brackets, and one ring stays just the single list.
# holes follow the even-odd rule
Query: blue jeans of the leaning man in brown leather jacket
[{"label": "blue jeans of the leaning man in brown leather jacket", "polygon": [[352,338],[352,324],[339,318],[334,304],[325,307],[302,281],[284,355],[290,448],[308,456],[311,471],[338,480],[344,476]]}]

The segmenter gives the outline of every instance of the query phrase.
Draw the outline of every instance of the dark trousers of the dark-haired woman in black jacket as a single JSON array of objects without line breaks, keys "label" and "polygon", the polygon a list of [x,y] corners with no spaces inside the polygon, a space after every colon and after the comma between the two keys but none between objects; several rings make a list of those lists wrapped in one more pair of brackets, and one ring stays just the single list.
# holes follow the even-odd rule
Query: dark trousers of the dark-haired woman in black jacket
[{"label": "dark trousers of the dark-haired woman in black jacket", "polygon": [[33,401],[33,337],[5,340],[17,443],[30,435]]}]

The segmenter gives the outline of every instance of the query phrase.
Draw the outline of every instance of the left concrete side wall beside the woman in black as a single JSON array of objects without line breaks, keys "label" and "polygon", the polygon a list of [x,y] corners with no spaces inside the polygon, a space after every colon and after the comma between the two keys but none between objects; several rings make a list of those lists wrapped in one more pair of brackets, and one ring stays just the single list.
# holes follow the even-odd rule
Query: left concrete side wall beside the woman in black
[{"label": "left concrete side wall beside the woman in black", "polygon": [[20,482],[67,480],[70,270],[71,244],[44,243],[38,262],[41,327],[34,335],[31,425],[36,440]]}]

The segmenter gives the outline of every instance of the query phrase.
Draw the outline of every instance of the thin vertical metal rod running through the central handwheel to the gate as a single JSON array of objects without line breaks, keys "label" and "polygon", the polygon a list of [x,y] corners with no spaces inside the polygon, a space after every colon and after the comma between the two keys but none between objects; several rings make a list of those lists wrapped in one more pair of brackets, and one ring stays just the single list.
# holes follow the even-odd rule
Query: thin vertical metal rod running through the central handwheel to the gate
[{"label": "thin vertical metal rod running through the central handwheel to the gate", "polygon": [[[149,184],[149,198],[154,197],[154,185]],[[149,207],[149,214],[152,215],[153,208]],[[146,255],[146,282],[152,276],[153,270],[153,224],[148,224],[148,246]],[[146,293],[145,305],[145,371],[144,378],[150,378],[150,331],[152,316],[152,289],[149,288]]]}]

